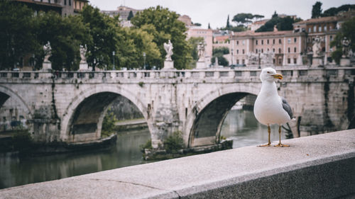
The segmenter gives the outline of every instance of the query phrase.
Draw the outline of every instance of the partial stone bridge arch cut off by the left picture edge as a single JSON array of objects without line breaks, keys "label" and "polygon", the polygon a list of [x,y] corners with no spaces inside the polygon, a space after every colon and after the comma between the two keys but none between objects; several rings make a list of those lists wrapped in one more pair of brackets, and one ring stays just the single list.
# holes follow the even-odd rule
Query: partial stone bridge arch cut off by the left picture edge
[{"label": "partial stone bridge arch cut off by the left picture edge", "polygon": [[26,111],[28,119],[32,119],[33,115],[26,101],[24,101],[23,98],[21,98],[21,96],[19,96],[18,93],[16,93],[15,91],[12,91],[6,86],[0,85],[0,108],[9,98],[13,98],[13,100],[16,101],[23,110]]}]

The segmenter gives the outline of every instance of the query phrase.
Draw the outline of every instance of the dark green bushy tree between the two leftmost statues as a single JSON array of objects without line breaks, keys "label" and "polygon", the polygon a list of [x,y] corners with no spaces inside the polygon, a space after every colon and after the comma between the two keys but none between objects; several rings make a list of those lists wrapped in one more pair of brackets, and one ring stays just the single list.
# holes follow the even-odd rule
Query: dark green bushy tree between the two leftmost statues
[{"label": "dark green bushy tree between the two leftmost statues", "polygon": [[[38,15],[38,41],[45,45],[48,41],[52,48],[52,69],[77,70],[80,63],[80,45],[91,41],[88,28],[80,16],[62,18],[58,13],[48,12]],[[43,50],[38,52],[40,68],[43,62]]]}]

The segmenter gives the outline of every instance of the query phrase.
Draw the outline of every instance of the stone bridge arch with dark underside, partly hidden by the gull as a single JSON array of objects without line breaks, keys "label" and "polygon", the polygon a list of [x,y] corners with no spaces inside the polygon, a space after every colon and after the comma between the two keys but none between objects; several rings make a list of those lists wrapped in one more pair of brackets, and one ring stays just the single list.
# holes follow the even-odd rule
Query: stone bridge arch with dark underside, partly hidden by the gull
[{"label": "stone bridge arch with dark underside, partly hidden by the gull", "polygon": [[[214,144],[231,107],[249,94],[257,96],[260,85],[228,84],[202,96],[187,115],[183,137],[185,144],[188,147]],[[200,135],[201,133],[204,135]],[[197,138],[199,136],[201,138]]]}]

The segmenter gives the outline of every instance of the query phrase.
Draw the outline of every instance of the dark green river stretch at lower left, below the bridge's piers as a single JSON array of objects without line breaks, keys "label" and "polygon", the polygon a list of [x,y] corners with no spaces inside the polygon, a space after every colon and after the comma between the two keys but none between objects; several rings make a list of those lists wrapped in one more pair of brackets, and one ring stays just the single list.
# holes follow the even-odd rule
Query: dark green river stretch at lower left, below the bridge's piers
[{"label": "dark green river stretch at lower left, below the bridge's piers", "polygon": [[116,146],[102,151],[18,158],[0,156],[0,188],[52,181],[70,176],[143,164],[139,145],[151,138],[149,131],[122,132]]}]

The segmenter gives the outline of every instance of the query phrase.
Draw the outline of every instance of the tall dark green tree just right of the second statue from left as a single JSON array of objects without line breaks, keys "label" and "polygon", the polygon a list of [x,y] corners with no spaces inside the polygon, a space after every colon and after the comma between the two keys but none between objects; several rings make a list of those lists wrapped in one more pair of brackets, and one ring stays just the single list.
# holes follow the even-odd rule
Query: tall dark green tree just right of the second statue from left
[{"label": "tall dark green tree just right of the second statue from left", "polygon": [[[111,64],[112,52],[118,51],[118,41],[124,40],[118,34],[122,33],[119,18],[107,16],[92,6],[84,6],[81,15],[84,24],[89,26],[88,37],[92,38],[92,42],[87,43],[87,63],[93,71],[96,67],[104,69]],[[119,53],[115,56],[119,57]],[[122,66],[121,62],[119,64]]]}]

